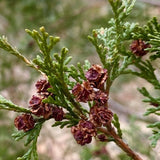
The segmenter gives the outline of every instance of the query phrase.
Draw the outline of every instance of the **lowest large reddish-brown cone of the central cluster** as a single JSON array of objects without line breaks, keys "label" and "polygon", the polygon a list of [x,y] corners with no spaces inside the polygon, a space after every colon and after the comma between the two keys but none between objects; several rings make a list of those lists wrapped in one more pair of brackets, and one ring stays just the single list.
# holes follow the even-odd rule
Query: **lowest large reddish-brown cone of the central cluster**
[{"label": "lowest large reddish-brown cone of the central cluster", "polygon": [[95,126],[90,121],[80,120],[78,125],[71,128],[71,132],[80,145],[89,144],[96,135]]}]

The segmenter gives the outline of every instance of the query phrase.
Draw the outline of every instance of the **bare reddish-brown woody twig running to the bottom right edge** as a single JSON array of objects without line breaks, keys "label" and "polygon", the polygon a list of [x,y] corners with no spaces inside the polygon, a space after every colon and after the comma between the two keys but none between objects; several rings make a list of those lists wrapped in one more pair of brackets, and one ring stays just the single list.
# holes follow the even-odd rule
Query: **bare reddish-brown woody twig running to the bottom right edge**
[{"label": "bare reddish-brown woody twig running to the bottom right edge", "polygon": [[98,128],[98,130],[104,134],[110,135],[114,138],[115,143],[128,154],[128,156],[132,157],[134,160],[143,160],[137,153],[135,153],[123,140],[117,135],[115,129],[111,124],[107,124],[107,129]]}]

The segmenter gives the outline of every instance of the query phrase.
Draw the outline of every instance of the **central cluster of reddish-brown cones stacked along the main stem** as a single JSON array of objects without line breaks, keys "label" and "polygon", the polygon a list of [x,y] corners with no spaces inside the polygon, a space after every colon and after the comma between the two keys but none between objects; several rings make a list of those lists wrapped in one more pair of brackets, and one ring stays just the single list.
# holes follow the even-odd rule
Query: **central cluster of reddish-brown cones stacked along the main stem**
[{"label": "central cluster of reddish-brown cones stacked along the main stem", "polygon": [[97,135],[97,127],[111,123],[113,113],[107,107],[108,95],[104,92],[104,85],[108,78],[106,69],[100,65],[92,65],[85,74],[86,81],[76,84],[72,93],[78,102],[92,101],[93,106],[89,111],[87,120],[80,120],[71,132],[80,145],[88,144],[96,136],[100,141],[105,141],[104,135]]}]

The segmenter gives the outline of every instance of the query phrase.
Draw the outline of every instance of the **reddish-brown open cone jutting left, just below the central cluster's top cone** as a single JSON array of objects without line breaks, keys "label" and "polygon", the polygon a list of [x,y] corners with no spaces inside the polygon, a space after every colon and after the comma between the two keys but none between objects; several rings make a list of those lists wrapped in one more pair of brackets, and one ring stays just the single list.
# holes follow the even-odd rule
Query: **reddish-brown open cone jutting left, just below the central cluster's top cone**
[{"label": "reddish-brown open cone jutting left, just below the central cluster's top cone", "polygon": [[72,93],[78,102],[87,102],[93,99],[93,88],[88,81],[84,81],[83,84],[76,84],[72,89]]}]

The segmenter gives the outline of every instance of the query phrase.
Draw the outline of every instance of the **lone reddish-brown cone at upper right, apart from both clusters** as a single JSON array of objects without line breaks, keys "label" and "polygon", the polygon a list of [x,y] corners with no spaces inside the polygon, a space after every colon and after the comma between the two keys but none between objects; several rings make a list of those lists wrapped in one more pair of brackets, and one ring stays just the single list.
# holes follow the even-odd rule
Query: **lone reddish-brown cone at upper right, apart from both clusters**
[{"label": "lone reddish-brown cone at upper right, apart from both clusters", "polygon": [[144,56],[148,53],[145,49],[150,48],[150,44],[145,43],[145,41],[139,39],[139,40],[134,40],[131,45],[130,49],[131,51],[136,55],[136,56]]}]

